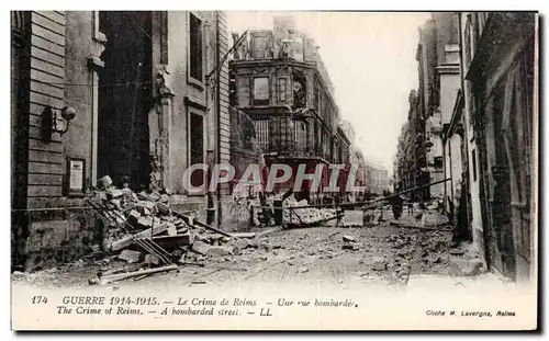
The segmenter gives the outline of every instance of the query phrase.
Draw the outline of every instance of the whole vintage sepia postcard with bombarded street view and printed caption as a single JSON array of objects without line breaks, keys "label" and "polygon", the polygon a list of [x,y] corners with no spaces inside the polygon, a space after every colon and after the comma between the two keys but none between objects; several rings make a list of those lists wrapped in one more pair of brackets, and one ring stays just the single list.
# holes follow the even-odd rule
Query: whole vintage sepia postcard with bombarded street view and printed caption
[{"label": "whole vintage sepia postcard with bombarded street view and printed caption", "polygon": [[539,327],[536,11],[10,13],[13,330]]}]

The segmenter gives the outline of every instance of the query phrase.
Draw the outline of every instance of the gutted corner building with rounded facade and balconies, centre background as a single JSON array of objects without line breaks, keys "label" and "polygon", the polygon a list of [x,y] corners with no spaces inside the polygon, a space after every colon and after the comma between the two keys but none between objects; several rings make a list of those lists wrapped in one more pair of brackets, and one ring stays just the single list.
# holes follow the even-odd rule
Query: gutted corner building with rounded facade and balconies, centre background
[{"label": "gutted corner building with rounded facade and balconies, centre background", "polygon": [[[333,86],[314,41],[295,30],[291,18],[279,16],[273,30],[248,32],[229,68],[235,84],[232,104],[254,121],[266,166],[285,163],[293,169],[292,178],[276,192],[293,186],[302,163],[307,173],[324,164],[321,187],[327,185],[327,167],[348,157],[349,141],[338,134]],[[309,185],[299,195],[322,201],[324,195],[312,194]]]}]

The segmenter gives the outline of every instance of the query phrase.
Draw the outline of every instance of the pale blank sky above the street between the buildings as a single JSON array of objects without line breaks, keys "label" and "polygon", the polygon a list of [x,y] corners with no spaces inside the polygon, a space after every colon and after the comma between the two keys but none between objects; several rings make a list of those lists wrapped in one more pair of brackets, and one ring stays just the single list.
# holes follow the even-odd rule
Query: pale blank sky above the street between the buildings
[{"label": "pale blank sky above the street between the buildings", "polygon": [[339,115],[355,128],[356,147],[391,171],[408,93],[417,89],[418,27],[430,14],[229,11],[228,30],[269,30],[277,15],[293,15],[295,29],[320,46]]}]

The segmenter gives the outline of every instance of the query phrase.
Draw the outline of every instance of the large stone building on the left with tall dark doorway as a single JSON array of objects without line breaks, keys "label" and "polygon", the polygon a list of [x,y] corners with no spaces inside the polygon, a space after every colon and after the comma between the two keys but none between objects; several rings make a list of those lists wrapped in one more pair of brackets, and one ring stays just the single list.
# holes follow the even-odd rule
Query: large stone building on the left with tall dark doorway
[{"label": "large stone building on the left with tall dark doorway", "polygon": [[175,207],[206,208],[205,190],[188,193],[182,174],[229,161],[223,12],[11,15],[15,265],[88,252],[97,236],[83,195],[108,174],[172,193]]}]

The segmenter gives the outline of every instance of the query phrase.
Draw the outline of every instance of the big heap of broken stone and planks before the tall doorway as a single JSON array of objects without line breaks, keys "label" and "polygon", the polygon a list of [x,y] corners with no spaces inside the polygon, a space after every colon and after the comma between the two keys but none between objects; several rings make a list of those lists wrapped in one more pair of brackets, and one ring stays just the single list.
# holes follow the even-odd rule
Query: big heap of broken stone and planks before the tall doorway
[{"label": "big heap of broken stone and planks before the tall doorway", "polygon": [[[250,242],[173,212],[168,193],[117,189],[109,177],[98,181],[90,204],[104,225],[102,249],[127,263],[154,268],[195,263],[238,254]],[[143,269],[141,269],[143,270]]]}]

